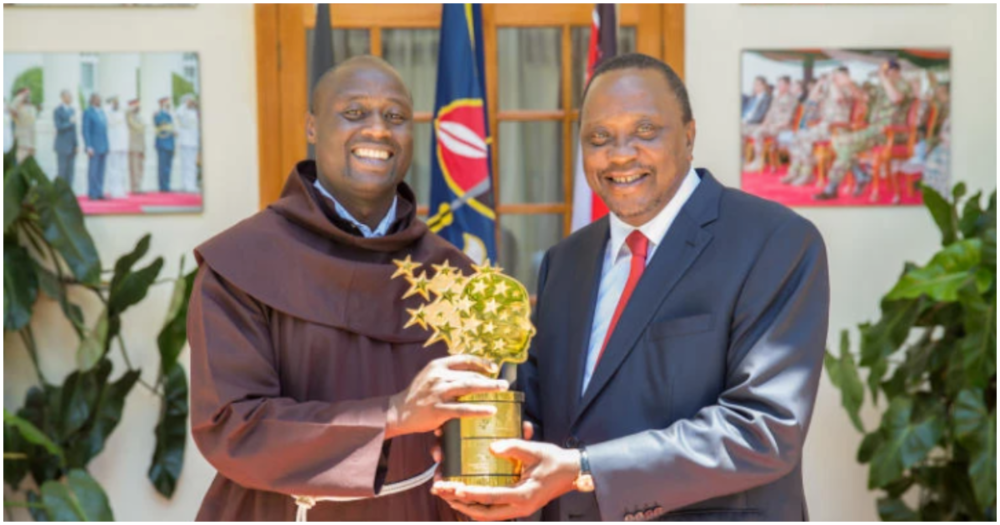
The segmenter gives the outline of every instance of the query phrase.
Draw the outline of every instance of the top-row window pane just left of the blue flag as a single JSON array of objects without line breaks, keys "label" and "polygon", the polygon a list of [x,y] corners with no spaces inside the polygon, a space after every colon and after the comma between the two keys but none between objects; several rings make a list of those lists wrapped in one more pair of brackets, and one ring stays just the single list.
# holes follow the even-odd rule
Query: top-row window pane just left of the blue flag
[{"label": "top-row window pane just left of the blue flag", "polygon": [[434,111],[439,35],[437,29],[382,31],[382,55],[413,92],[416,111]]}]

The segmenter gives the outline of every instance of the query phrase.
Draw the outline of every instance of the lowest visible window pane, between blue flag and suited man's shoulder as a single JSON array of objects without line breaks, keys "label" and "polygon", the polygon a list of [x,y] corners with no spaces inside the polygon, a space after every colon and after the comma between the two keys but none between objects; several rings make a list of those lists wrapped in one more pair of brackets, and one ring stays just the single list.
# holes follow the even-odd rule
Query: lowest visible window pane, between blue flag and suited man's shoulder
[{"label": "lowest visible window pane, between blue flag and suited man's shoulder", "polygon": [[538,293],[538,271],[549,248],[562,240],[562,215],[504,215],[500,217],[500,266]]}]

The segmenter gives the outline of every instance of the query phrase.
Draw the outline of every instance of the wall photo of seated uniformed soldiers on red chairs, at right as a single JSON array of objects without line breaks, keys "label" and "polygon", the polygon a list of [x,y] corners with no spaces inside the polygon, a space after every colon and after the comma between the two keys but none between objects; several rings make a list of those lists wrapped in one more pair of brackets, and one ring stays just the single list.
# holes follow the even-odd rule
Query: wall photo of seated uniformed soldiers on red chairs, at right
[{"label": "wall photo of seated uniformed soldiers on red chairs, at right", "polygon": [[787,206],[915,206],[948,195],[951,51],[745,51],[742,186]]}]

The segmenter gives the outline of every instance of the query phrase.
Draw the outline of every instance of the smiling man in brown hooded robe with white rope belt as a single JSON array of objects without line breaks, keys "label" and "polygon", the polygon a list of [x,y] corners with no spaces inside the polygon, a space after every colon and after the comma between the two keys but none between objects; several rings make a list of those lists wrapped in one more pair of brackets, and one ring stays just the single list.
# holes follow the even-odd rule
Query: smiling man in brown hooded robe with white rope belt
[{"label": "smiling man in brown hooded robe with white rope belt", "polygon": [[409,284],[393,280],[394,261],[469,264],[416,218],[402,182],[412,122],[388,64],[328,73],[307,124],[317,161],[196,251],[192,432],[219,472],[198,522],[458,521],[430,495],[433,432],[492,415],[455,400],[508,385],[404,329],[422,298],[400,299]]}]

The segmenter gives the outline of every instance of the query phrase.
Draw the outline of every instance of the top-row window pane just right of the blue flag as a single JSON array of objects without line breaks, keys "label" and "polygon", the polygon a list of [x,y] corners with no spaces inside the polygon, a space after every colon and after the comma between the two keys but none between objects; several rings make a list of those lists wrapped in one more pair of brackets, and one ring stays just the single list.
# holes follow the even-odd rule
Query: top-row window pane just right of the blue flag
[{"label": "top-row window pane just right of the blue flag", "polygon": [[556,28],[501,28],[500,111],[562,107],[562,38]]}]

